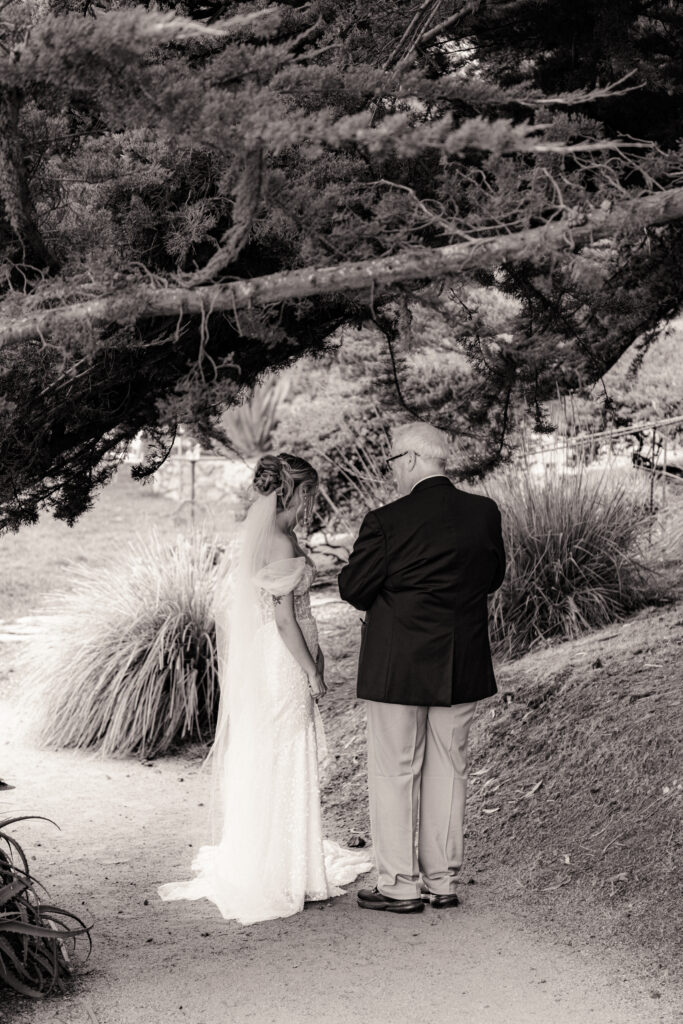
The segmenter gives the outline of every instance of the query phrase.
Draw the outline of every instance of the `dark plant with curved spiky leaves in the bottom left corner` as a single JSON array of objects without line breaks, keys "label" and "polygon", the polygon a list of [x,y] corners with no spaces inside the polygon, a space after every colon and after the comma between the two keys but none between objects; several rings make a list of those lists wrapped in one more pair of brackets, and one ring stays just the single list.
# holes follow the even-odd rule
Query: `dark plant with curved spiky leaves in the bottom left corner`
[{"label": "dark plant with curved spiky leaves in the bottom left corner", "polygon": [[87,955],[91,941],[90,928],[80,918],[40,899],[38,890],[46,890],[32,877],[23,848],[6,831],[33,817],[38,815],[0,821],[0,990],[8,987],[40,999],[65,991],[79,938],[87,938]]}]

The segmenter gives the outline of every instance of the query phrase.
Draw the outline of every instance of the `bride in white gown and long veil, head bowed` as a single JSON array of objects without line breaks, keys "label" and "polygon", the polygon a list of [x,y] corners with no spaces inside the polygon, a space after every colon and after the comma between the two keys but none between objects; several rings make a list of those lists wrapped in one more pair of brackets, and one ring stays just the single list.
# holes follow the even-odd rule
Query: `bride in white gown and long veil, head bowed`
[{"label": "bride in white gown and long veil, head bowed", "polygon": [[367,851],[323,838],[325,659],[310,610],[315,570],[294,531],[310,525],[317,473],[287,453],[264,456],[253,486],[237,565],[223,560],[214,597],[213,845],[200,849],[193,879],[159,888],[164,900],[210,899],[243,925],[340,896],[373,866]]}]

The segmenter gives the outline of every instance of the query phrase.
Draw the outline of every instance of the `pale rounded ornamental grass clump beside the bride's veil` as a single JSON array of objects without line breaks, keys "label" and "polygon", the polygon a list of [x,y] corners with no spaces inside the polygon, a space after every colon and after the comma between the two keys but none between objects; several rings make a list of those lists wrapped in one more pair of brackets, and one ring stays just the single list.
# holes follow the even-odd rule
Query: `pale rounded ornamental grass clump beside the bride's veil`
[{"label": "pale rounded ornamental grass clump beside the bride's veil", "polygon": [[163,754],[208,741],[218,706],[216,542],[152,531],[53,594],[24,670],[49,746]]}]

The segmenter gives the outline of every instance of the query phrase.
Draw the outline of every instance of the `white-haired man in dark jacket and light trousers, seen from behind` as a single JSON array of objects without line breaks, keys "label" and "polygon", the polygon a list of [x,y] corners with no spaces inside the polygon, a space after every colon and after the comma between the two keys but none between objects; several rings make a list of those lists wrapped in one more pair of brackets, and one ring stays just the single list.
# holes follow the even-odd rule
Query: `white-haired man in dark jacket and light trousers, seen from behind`
[{"label": "white-haired man in dark jacket and light trousers, seen from behind", "polygon": [[368,909],[458,904],[467,739],[477,701],[496,692],[486,595],[505,575],[501,515],[454,486],[447,456],[428,424],[393,432],[401,497],[368,513],[339,575],[342,598],[366,612],[357,694],[378,871],[358,893]]}]

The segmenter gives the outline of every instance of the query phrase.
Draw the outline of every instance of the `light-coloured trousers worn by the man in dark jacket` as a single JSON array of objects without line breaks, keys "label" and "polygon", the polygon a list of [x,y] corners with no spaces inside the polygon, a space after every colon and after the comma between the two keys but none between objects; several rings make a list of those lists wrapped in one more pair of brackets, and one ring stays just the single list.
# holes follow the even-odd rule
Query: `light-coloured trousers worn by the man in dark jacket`
[{"label": "light-coloured trousers worn by the man in dark jacket", "polygon": [[467,738],[476,702],[451,708],[367,700],[370,821],[385,896],[413,899],[420,876],[455,892],[463,863]]}]

